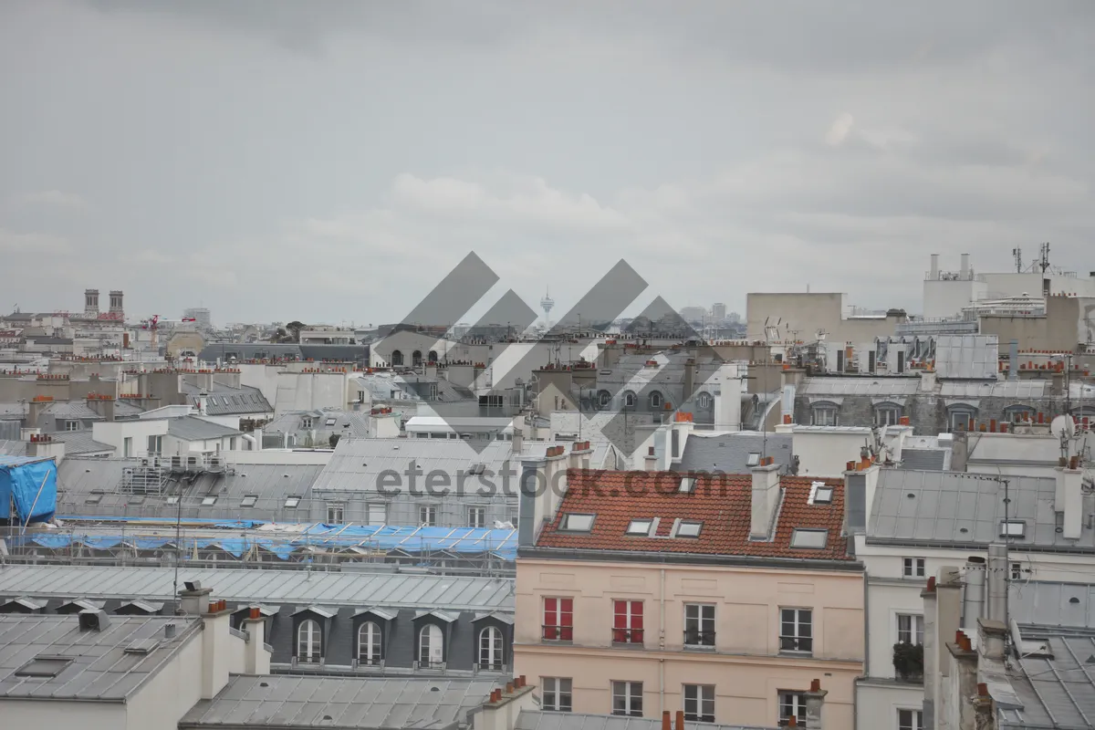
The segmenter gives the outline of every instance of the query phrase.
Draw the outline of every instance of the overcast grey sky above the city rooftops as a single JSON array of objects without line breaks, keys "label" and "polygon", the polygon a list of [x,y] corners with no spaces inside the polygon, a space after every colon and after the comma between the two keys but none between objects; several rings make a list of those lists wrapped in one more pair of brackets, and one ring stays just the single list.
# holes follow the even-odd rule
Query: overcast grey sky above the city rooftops
[{"label": "overcast grey sky above the city rooftops", "polygon": [[1086,274],[1093,37],[1090,0],[7,0],[0,310],[390,322],[470,251],[557,311],[620,258],[742,314],[919,311],[933,252]]}]

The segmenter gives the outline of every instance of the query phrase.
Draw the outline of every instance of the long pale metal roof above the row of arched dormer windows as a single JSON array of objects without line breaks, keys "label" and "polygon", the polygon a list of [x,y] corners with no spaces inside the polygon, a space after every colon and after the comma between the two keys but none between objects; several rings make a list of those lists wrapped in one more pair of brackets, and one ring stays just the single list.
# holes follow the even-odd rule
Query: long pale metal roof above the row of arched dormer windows
[{"label": "long pale metal roof above the row of arched dormer windows", "polygon": [[[0,570],[0,595],[171,601],[174,580],[170,568],[9,566]],[[506,578],[182,568],[178,584],[187,580],[198,580],[216,598],[233,602],[451,611],[514,607],[514,581]]]}]

